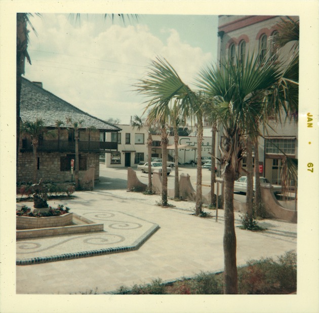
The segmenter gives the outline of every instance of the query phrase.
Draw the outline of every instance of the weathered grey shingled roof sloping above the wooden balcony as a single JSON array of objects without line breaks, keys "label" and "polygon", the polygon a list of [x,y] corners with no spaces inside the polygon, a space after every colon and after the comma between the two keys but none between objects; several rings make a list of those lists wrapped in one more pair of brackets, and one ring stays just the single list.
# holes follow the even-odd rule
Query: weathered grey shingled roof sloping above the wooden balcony
[{"label": "weathered grey shingled roof sloping above the wooden balcony", "polygon": [[61,121],[64,123],[62,128],[71,126],[66,123],[66,119],[70,118],[72,122],[83,120],[81,126],[83,129],[95,127],[104,132],[121,130],[78,109],[24,77],[22,77],[20,118],[22,122],[35,122],[37,119],[42,119],[46,127],[56,127],[56,121]]}]

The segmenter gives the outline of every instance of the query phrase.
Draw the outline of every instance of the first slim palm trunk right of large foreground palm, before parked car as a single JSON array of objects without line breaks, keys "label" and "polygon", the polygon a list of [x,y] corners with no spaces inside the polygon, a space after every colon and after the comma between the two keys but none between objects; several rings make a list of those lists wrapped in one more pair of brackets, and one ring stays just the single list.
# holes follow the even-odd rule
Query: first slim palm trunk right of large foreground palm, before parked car
[{"label": "first slim palm trunk right of large foreground palm, before parked car", "polygon": [[252,140],[250,136],[246,139],[246,166],[247,166],[247,193],[246,193],[246,214],[248,219],[253,218],[253,155]]}]

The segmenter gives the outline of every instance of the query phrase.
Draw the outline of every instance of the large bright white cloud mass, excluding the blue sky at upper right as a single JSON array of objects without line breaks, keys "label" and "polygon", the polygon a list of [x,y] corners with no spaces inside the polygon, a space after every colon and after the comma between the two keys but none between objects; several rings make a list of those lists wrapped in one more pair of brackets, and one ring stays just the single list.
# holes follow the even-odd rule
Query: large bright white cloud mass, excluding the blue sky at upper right
[{"label": "large bright white cloud mass, excluding the blue sky at upper right", "polygon": [[34,18],[32,24],[38,37],[30,33],[32,65],[25,77],[98,118],[122,123],[143,111],[145,98],[132,85],[155,56],[165,57],[187,84],[212,57],[181,42],[175,29],[163,43],[142,24],[105,27],[84,17],[80,27],[61,14]]}]

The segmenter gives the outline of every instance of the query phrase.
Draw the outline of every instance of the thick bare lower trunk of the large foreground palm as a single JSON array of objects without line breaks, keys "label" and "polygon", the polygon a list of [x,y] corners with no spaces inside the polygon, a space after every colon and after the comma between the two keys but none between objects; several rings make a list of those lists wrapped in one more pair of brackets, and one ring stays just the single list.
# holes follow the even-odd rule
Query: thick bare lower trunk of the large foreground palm
[{"label": "thick bare lower trunk of the large foreground palm", "polygon": [[234,226],[235,175],[228,165],[224,173],[224,294],[237,294],[236,233]]}]

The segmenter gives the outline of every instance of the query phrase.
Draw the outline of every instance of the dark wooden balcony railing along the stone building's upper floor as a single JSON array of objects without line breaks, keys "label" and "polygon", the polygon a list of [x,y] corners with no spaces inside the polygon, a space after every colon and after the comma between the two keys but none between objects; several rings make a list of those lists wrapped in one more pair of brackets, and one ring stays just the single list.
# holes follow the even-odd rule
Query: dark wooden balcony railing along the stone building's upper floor
[{"label": "dark wooden balcony railing along the stone building's upper floor", "polygon": [[[31,151],[32,143],[30,140],[22,140],[22,151]],[[37,151],[61,151],[74,152],[75,142],[66,140],[41,140],[37,147]],[[117,151],[117,142],[105,141],[79,141],[78,150],[85,152],[104,152]]]}]

